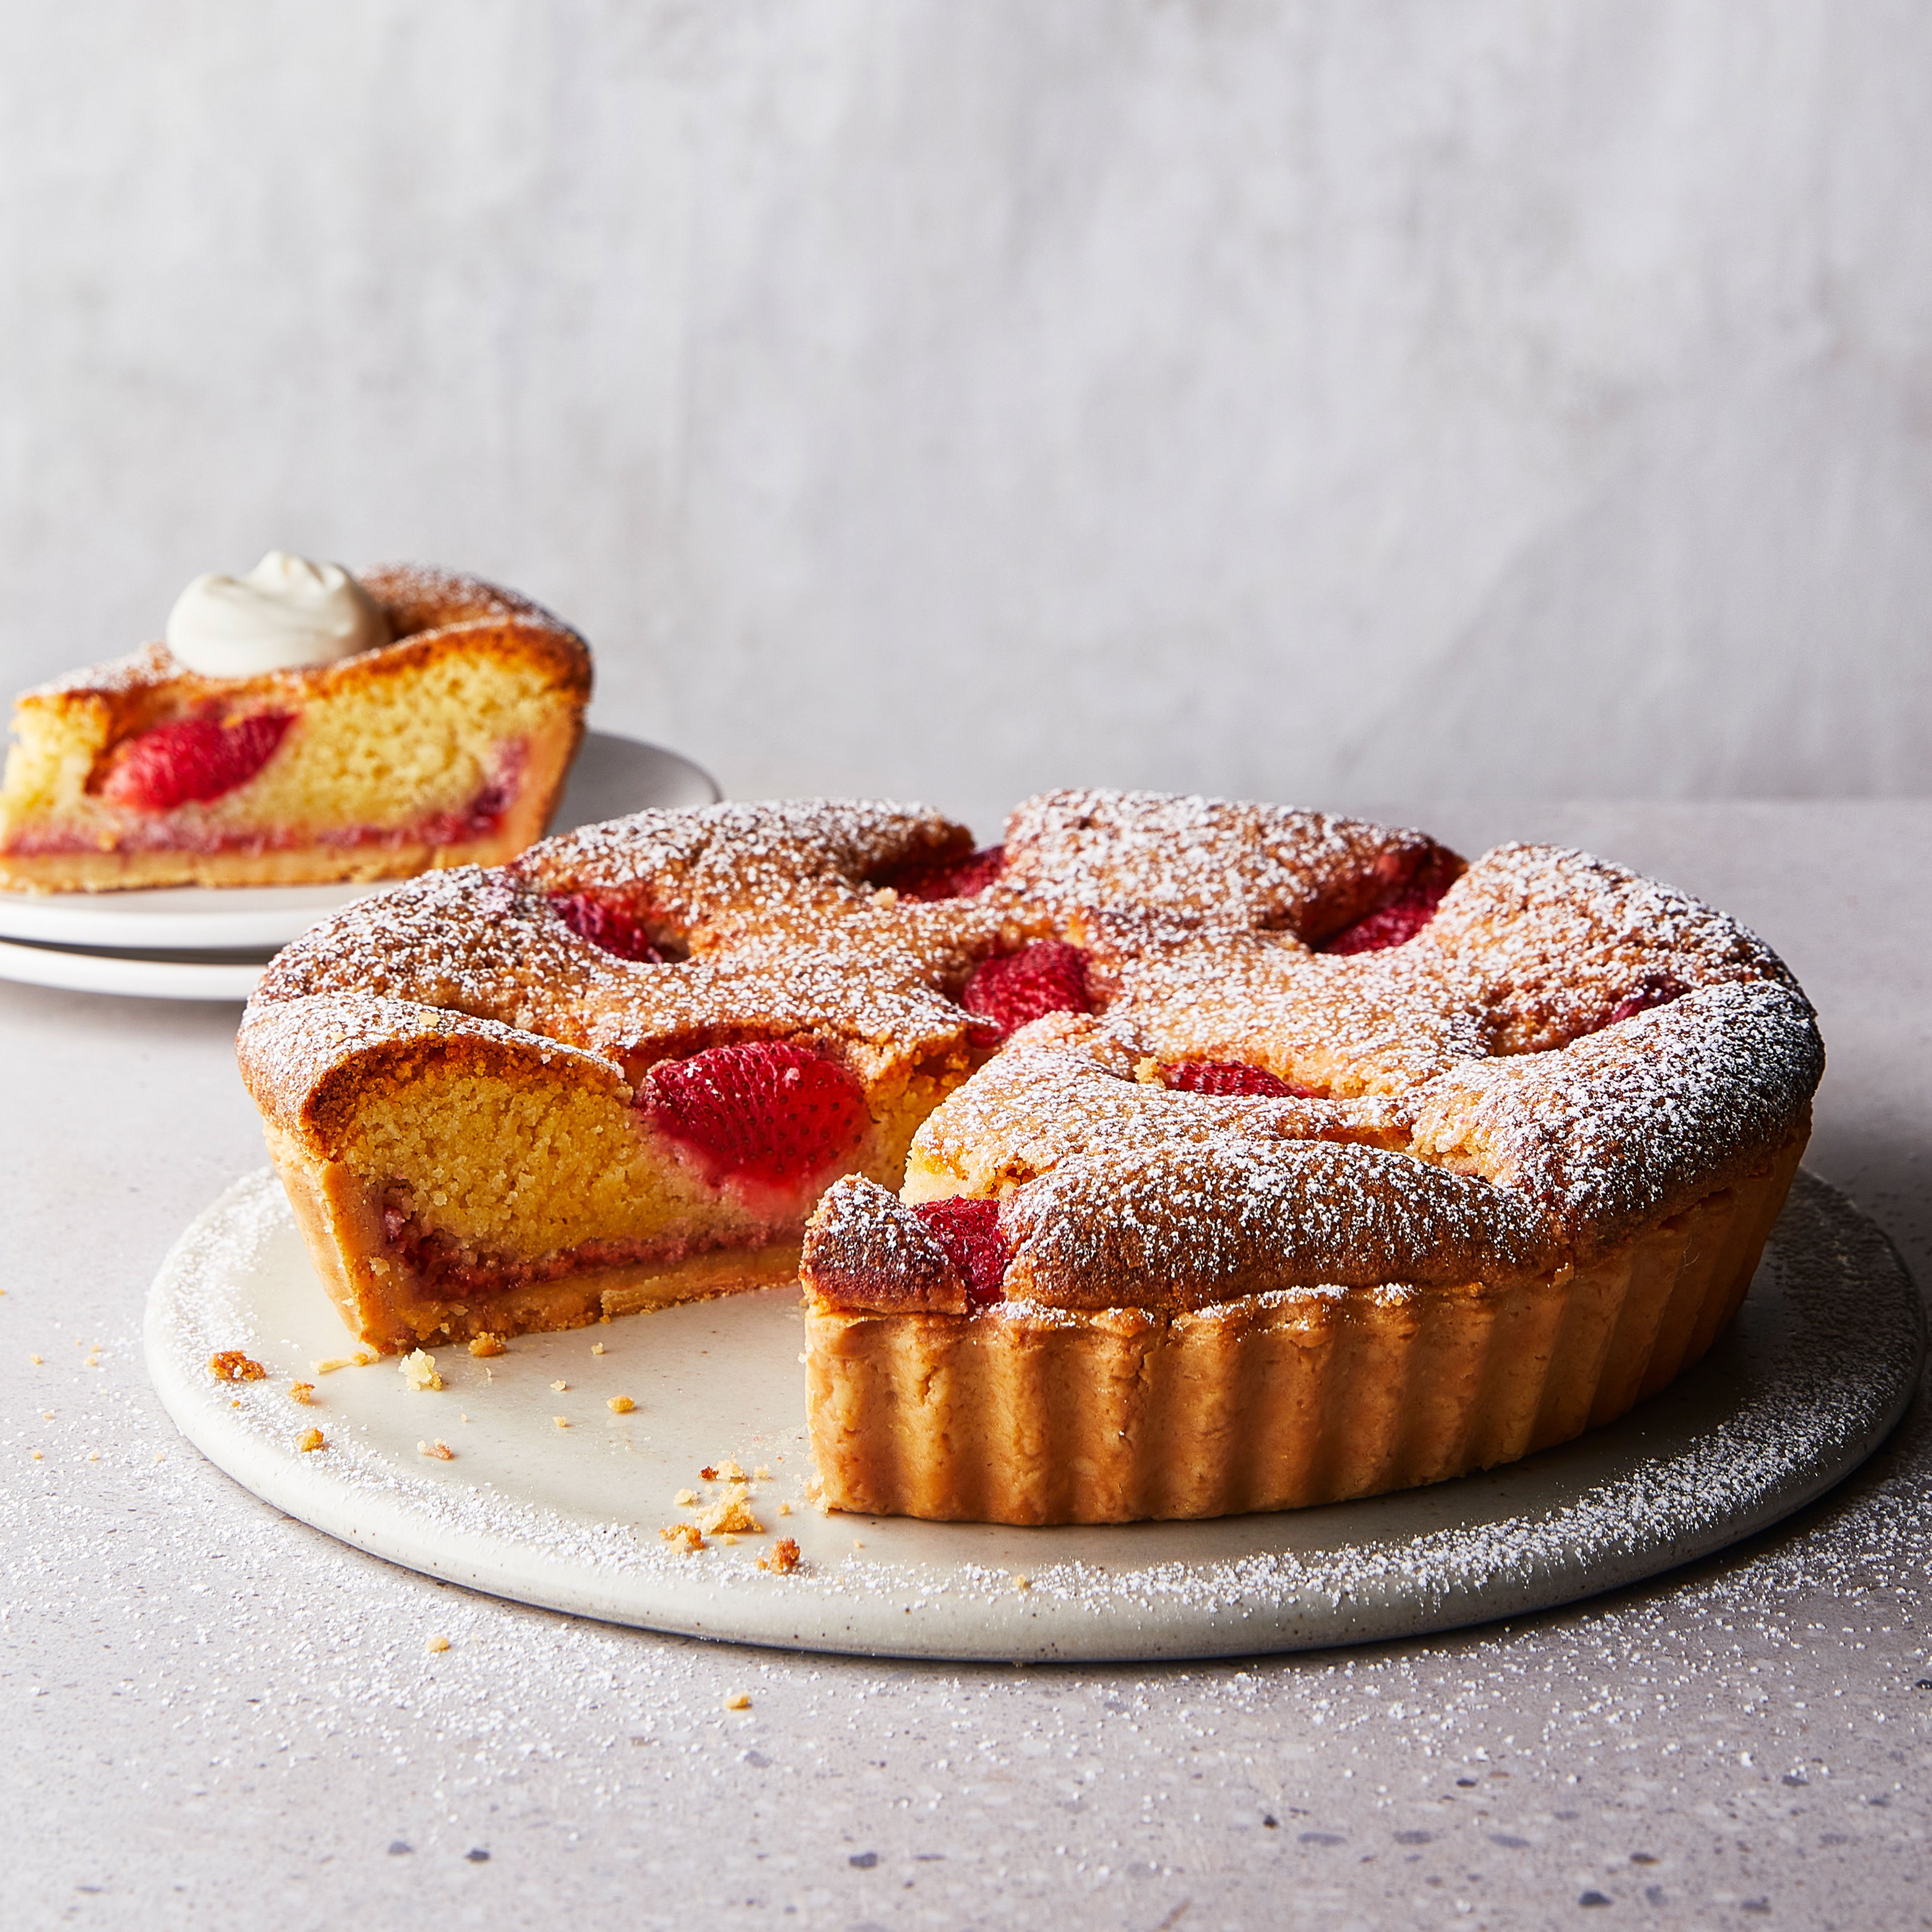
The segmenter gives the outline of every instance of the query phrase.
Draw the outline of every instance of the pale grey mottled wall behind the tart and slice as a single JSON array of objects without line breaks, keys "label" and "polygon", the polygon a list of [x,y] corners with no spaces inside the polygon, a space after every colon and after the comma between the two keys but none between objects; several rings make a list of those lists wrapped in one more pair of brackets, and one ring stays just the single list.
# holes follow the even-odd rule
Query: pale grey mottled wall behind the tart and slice
[{"label": "pale grey mottled wall behind the tart and slice", "polygon": [[0,668],[522,585],[736,792],[1932,788],[1932,10],[17,0]]}]

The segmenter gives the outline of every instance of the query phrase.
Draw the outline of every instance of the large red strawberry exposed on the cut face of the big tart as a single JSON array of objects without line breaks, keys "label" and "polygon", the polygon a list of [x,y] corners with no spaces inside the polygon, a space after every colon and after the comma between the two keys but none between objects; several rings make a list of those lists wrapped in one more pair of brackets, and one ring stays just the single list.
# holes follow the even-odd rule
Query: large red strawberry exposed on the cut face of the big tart
[{"label": "large red strawberry exposed on the cut face of the big tart", "polygon": [[869,1119],[866,1095],[837,1061],[784,1039],[659,1061],[638,1105],[701,1157],[713,1182],[740,1175],[775,1188],[848,1155]]}]

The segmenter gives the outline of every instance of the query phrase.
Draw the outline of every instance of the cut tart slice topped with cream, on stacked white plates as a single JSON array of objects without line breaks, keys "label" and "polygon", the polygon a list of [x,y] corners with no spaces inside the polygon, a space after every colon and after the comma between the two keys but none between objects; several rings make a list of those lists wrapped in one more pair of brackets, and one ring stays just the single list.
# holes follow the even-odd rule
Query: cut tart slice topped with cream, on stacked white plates
[{"label": "cut tart slice topped with cream, on stacked white plates", "polygon": [[272,551],[197,578],[168,641],[21,694],[0,887],[394,879],[543,835],[591,661],[477,578]]}]

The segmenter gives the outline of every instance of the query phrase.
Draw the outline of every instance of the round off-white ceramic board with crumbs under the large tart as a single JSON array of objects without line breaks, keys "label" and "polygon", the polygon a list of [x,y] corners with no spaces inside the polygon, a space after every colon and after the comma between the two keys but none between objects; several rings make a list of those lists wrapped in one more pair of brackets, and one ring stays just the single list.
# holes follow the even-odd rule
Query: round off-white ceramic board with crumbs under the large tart
[{"label": "round off-white ceramic board with crumbs under the large tart", "polygon": [[[495,1360],[439,1349],[440,1391],[412,1391],[394,1356],[317,1372],[355,1350],[269,1173],[187,1229],[147,1308],[149,1372],[189,1441],[375,1555],[657,1631],[1026,1662],[1414,1636],[1634,1582],[1776,1522],[1864,1461],[1911,1401],[1924,1335],[1884,1235],[1801,1175],[1737,1325],[1623,1422],[1358,1503],[1047,1530],[815,1509],[802,1347],[784,1289],[522,1337]],[[209,1358],[226,1349],[267,1379],[214,1379]],[[290,1399],[292,1379],[315,1383],[311,1405]],[[636,1408],[614,1414],[611,1397]],[[298,1451],[309,1428],[325,1449]],[[452,1461],[419,1453],[439,1439]],[[765,1532],[676,1553],[659,1532],[697,1515],[678,1492],[719,1497],[699,1470],[728,1459],[753,1476]],[[804,1553],[790,1575],[757,1567],[781,1536]]]}]

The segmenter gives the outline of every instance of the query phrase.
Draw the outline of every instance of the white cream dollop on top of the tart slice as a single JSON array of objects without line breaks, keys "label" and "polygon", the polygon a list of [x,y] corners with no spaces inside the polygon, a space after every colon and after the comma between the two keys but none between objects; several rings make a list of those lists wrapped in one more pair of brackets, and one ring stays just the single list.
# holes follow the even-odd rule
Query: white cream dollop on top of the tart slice
[{"label": "white cream dollop on top of the tart slice", "polygon": [[388,618],[340,564],[288,551],[245,578],[195,578],[168,612],[168,649],[205,678],[332,665],[388,641]]}]

